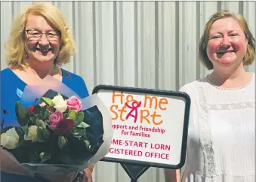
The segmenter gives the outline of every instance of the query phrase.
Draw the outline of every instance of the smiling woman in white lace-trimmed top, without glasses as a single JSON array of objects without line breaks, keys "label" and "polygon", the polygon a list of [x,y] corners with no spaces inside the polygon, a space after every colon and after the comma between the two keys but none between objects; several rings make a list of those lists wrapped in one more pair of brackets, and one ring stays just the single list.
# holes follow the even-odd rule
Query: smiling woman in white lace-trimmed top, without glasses
[{"label": "smiling woman in white lace-trimmed top, without glasses", "polygon": [[[213,14],[199,43],[206,77],[180,91],[191,98],[187,159],[165,181],[255,181],[255,74],[245,71],[255,40],[241,14]],[[181,178],[181,179],[180,179]]]}]

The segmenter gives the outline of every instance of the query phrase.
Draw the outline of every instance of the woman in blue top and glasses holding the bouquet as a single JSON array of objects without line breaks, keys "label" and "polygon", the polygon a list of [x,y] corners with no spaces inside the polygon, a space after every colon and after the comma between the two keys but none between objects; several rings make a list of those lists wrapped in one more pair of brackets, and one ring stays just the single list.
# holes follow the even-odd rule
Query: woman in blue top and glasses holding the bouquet
[{"label": "woman in blue top and glasses holding the bouquet", "polygon": [[[3,126],[15,126],[15,102],[20,100],[20,91],[33,85],[47,75],[69,86],[82,99],[88,89],[79,75],[59,68],[69,62],[75,53],[75,45],[63,14],[54,5],[33,3],[14,21],[6,44],[6,60],[9,67],[1,71],[1,108]],[[90,169],[63,175],[35,175],[29,177],[24,168],[11,160],[1,159],[2,182],[39,181],[92,181]],[[77,174],[85,174],[81,180]]]}]

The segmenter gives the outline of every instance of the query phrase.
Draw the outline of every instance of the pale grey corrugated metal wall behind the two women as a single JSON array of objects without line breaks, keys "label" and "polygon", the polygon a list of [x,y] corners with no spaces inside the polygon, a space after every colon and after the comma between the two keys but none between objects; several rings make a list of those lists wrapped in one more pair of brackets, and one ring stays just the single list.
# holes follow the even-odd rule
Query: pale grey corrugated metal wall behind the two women
[{"label": "pale grey corrugated metal wall behind the two women", "polygon": [[[13,18],[31,2],[1,2],[1,68]],[[208,71],[197,47],[205,23],[221,9],[242,13],[256,35],[255,2],[52,2],[65,14],[78,53],[65,68],[97,84],[177,90]],[[256,70],[254,65],[247,68]],[[99,162],[95,182],[130,181],[121,165]],[[139,182],[164,181],[150,168]]]}]

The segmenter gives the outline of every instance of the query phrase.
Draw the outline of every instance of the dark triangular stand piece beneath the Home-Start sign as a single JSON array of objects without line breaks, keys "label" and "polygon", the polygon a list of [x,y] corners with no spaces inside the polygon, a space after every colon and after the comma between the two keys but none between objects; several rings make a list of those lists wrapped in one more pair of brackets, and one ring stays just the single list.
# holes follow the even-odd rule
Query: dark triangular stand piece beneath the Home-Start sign
[{"label": "dark triangular stand piece beneath the Home-Start sign", "polygon": [[122,164],[122,168],[125,169],[125,172],[128,174],[128,176],[131,178],[131,182],[137,182],[137,179],[145,172],[147,171],[150,166],[140,166],[140,165],[127,165]]}]

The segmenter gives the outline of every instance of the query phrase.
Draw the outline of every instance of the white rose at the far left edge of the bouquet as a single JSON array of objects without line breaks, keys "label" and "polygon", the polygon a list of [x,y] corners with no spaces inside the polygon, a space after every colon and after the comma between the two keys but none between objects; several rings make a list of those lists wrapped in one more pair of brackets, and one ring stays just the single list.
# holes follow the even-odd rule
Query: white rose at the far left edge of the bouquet
[{"label": "white rose at the far left edge of the bouquet", "polygon": [[19,143],[19,135],[15,128],[8,129],[7,132],[1,135],[1,145],[7,149],[14,149]]}]

